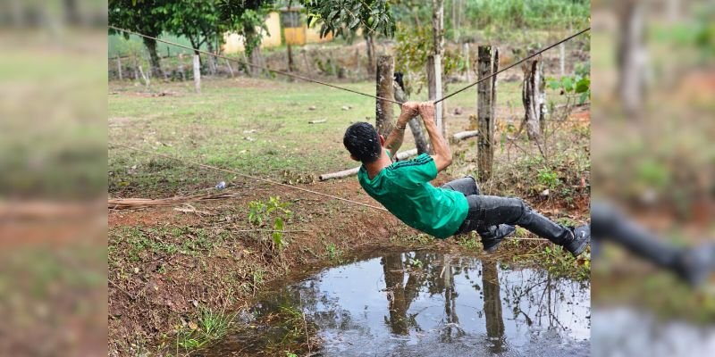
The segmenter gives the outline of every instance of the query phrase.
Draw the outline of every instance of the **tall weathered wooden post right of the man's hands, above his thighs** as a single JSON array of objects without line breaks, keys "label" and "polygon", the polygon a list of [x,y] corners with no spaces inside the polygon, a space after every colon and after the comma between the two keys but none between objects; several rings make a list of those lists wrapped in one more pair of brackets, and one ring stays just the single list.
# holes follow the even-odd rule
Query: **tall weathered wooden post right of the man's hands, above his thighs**
[{"label": "tall weathered wooden post right of the man's hands, above his thighs", "polygon": [[[498,70],[499,51],[492,46],[479,46],[477,50],[477,76],[482,80]],[[479,179],[492,179],[494,162],[494,122],[496,104],[496,76],[480,82],[476,87],[476,116],[479,125],[477,163]]]}]

